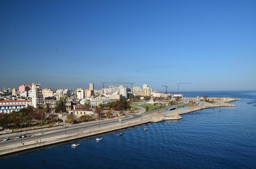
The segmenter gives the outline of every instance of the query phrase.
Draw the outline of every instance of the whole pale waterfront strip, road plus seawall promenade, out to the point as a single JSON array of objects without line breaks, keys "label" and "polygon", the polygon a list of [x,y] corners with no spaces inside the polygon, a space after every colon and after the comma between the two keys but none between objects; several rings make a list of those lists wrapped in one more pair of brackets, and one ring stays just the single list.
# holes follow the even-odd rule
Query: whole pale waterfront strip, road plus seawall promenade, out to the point
[{"label": "whole pale waterfront strip, road plus seawall promenade, out to the point", "polygon": [[[236,99],[229,99],[230,101],[234,101]],[[36,149],[44,146],[49,146],[52,144],[57,143],[63,143],[68,142],[84,137],[90,137],[90,136],[96,136],[99,134],[108,133],[111,131],[116,131],[119,129],[124,129],[136,125],[141,125],[144,123],[149,122],[158,122],[158,121],[164,121],[164,120],[179,120],[181,119],[181,114],[186,114],[189,112],[209,108],[209,107],[222,107],[222,106],[234,106],[233,104],[225,103],[225,102],[219,102],[219,103],[206,103],[206,102],[200,102],[200,105],[196,107],[190,107],[187,109],[182,110],[172,110],[167,113],[160,113],[156,114],[156,111],[143,113],[140,114],[141,111],[144,111],[140,109],[140,112],[137,114],[129,114],[127,119],[121,122],[119,122],[119,119],[114,120],[105,120],[100,121],[101,124],[99,124],[99,121],[94,122],[86,122],[81,124],[68,124],[67,130],[65,131],[65,127],[59,126],[50,128],[50,129],[44,129],[43,133],[39,133],[40,130],[33,130],[30,131],[28,134],[28,138],[23,139],[23,144],[21,144],[20,140],[16,139],[15,137],[19,135],[20,133],[13,133],[8,134],[6,137],[10,137],[15,140],[15,142],[4,142],[1,140],[0,144],[0,156],[5,156],[7,154],[17,153],[21,151],[27,151],[30,149]],[[123,123],[124,122],[124,123]],[[84,127],[85,126],[85,127]],[[99,128],[100,126],[100,128]],[[67,134],[65,134],[67,132]],[[10,136],[9,136],[10,135]],[[4,135],[3,135],[4,136]],[[2,138],[1,138],[2,139]],[[18,143],[19,142],[19,143]]]}]

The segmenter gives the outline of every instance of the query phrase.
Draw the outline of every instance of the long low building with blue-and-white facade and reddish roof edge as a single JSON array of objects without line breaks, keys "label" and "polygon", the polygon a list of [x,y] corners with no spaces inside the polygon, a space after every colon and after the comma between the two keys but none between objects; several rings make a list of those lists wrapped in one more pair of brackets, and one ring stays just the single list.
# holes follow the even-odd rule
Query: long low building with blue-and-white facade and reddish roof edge
[{"label": "long low building with blue-and-white facade and reddish roof edge", "polygon": [[2,100],[0,101],[0,113],[11,113],[12,111],[20,111],[20,109],[28,107],[27,100]]}]

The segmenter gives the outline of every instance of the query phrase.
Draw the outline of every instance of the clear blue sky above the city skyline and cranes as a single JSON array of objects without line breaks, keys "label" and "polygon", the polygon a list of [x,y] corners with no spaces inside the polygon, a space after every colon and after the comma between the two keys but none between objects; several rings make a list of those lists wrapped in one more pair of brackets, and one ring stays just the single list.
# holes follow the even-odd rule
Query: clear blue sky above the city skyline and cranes
[{"label": "clear blue sky above the city skyline and cranes", "polygon": [[253,0],[1,1],[0,88],[256,90],[255,9]]}]

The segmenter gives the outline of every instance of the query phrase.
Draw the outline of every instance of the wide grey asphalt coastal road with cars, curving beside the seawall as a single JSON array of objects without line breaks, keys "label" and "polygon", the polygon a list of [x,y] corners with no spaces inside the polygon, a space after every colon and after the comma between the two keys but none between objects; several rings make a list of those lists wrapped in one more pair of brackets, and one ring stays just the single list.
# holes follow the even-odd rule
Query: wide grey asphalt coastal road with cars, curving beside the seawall
[{"label": "wide grey asphalt coastal road with cars, curving beside the seawall", "polygon": [[[167,107],[167,108],[162,108],[159,109],[159,111],[163,111],[165,109],[169,109],[172,107],[176,107],[177,105],[173,105],[171,107]],[[60,136],[60,135],[65,135],[65,132],[67,134],[69,133],[76,133],[78,134],[78,132],[88,132],[90,130],[95,130],[95,129],[99,129],[100,127],[114,127],[115,125],[118,125],[120,123],[129,123],[132,120],[143,120],[144,118],[146,118],[145,116],[150,116],[152,115],[152,113],[156,113],[158,112],[157,110],[154,111],[150,111],[147,113],[143,113],[145,112],[145,109],[143,107],[139,107],[139,106],[135,106],[138,107],[140,109],[140,111],[136,114],[129,114],[126,113],[126,118],[122,118],[121,117],[121,122],[119,121],[119,117],[117,118],[113,118],[113,119],[104,119],[104,120],[100,120],[100,124],[99,121],[88,121],[88,122],[83,122],[83,123],[77,123],[77,124],[69,124],[66,123],[66,130],[65,130],[65,123],[62,126],[58,126],[58,127],[52,127],[52,128],[46,128],[46,129],[42,129],[42,133],[40,133],[40,129],[36,129],[36,130],[30,130],[30,131],[23,131],[22,134],[26,135],[27,137],[22,138],[22,143],[28,142],[28,141],[34,141],[34,140],[38,140],[38,142],[40,142],[40,139],[45,139],[45,138],[49,138],[49,137],[54,137],[54,136]],[[163,114],[157,114],[154,116],[158,116],[158,115],[163,115]],[[6,145],[11,145],[11,144],[16,144],[16,143],[21,143],[21,138],[17,139],[16,136],[21,135],[21,133],[12,133],[12,134],[4,134],[0,136],[0,147],[4,147]],[[5,137],[9,137],[10,140],[8,141],[3,141]]]}]

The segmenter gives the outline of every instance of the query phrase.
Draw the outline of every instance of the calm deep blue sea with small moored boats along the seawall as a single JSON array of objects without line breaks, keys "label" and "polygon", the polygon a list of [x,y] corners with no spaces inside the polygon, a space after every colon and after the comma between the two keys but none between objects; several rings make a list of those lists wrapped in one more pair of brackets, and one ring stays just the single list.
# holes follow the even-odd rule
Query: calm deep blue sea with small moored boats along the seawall
[{"label": "calm deep blue sea with small moored boats along the seawall", "polygon": [[0,160],[1,168],[256,168],[256,91],[183,92],[232,97],[235,107],[209,108],[165,121]]}]

